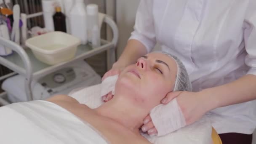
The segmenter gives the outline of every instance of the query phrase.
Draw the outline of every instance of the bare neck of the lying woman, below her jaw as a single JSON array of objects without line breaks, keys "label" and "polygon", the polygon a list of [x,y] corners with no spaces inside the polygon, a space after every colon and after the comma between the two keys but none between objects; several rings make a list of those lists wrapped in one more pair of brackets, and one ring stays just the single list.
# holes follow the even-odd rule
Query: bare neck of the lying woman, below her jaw
[{"label": "bare neck of the lying woman, below her jaw", "polygon": [[108,117],[135,133],[139,133],[143,119],[149,113],[142,107],[136,106],[133,101],[125,99],[125,96],[117,95],[95,110],[99,115]]}]

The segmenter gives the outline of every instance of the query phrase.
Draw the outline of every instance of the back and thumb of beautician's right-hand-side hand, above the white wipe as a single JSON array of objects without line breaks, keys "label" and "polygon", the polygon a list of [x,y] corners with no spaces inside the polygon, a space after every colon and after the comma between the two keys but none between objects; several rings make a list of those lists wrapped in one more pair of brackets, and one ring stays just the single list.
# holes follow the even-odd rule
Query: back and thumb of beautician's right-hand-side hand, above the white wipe
[{"label": "back and thumb of beautician's right-hand-side hand, above the white wipe", "polygon": [[207,99],[200,92],[175,91],[170,92],[161,101],[163,104],[168,104],[172,99],[177,97],[177,103],[185,117],[186,124],[192,124],[199,120],[209,110]]}]

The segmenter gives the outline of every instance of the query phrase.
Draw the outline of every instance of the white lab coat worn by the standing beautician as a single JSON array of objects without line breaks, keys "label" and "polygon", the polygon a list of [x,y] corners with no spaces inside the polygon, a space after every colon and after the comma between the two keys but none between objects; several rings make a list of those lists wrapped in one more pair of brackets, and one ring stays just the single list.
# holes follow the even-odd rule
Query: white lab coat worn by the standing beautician
[{"label": "white lab coat worn by the standing beautician", "polygon": [[[181,59],[193,91],[256,75],[256,0],[141,0],[134,29],[148,52],[158,42]],[[208,115],[218,133],[251,134],[256,101]]]}]

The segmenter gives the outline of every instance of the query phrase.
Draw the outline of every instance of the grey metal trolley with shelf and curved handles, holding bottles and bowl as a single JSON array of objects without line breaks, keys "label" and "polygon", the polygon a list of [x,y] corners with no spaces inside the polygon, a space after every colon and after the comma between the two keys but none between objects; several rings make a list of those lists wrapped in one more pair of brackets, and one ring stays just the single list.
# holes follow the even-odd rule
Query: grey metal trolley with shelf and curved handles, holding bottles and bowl
[{"label": "grey metal trolley with shelf and curved handles, holding bottles and bowl", "polygon": [[[42,14],[42,12],[34,13],[32,15],[28,15],[27,19],[35,16],[41,16]],[[11,48],[13,51],[15,51],[10,56],[0,56],[0,64],[13,70],[12,73],[0,77],[0,80],[4,80],[16,74],[24,76],[24,85],[27,99],[33,100],[31,89],[32,80],[38,80],[40,77],[48,75],[51,72],[55,72],[57,69],[65,67],[67,64],[72,64],[76,61],[81,61],[98,53],[101,53],[102,51],[107,51],[107,67],[110,68],[115,62],[115,48],[118,40],[118,29],[117,25],[112,20],[112,18],[110,18],[110,16],[105,16],[104,22],[107,23],[107,25],[112,29],[112,41],[101,39],[101,46],[99,48],[91,48],[91,46],[89,45],[80,45],[78,46],[75,57],[72,60],[55,65],[48,65],[42,63],[35,58],[29,48],[24,49],[20,45],[0,37],[1,45]],[[0,93],[0,104],[2,105],[10,104],[8,101],[3,99],[6,94],[6,92]]]}]

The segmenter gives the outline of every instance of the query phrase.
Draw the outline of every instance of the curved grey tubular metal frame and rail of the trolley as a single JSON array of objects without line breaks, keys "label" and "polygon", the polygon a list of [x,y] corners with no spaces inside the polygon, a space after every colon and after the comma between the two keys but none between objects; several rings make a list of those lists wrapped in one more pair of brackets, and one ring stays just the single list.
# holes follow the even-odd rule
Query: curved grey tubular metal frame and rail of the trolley
[{"label": "curved grey tubular metal frame and rail of the trolley", "polygon": [[[43,13],[33,13],[31,15],[27,16],[27,19],[29,18],[33,18],[35,16],[41,16]],[[38,80],[38,78],[43,77],[44,75],[48,75],[51,72],[56,71],[57,69],[60,69],[61,67],[64,67],[67,64],[70,64],[74,61],[78,61],[78,60],[82,60],[82,59],[86,59],[90,56],[96,55],[98,53],[101,53],[102,51],[107,51],[109,50],[110,52],[107,53],[107,67],[112,66],[112,64],[115,62],[115,48],[117,45],[117,40],[118,40],[118,29],[117,29],[117,25],[115,24],[115,22],[109,17],[109,16],[105,16],[104,18],[104,22],[106,22],[112,29],[113,32],[113,39],[111,42],[108,42],[107,40],[102,40],[101,39],[101,43],[103,43],[103,45],[101,45],[99,48],[94,48],[91,51],[88,51],[80,56],[75,57],[74,59],[64,62],[64,63],[60,63],[60,64],[56,64],[53,65],[51,67],[47,67],[45,69],[42,69],[38,72],[32,72],[32,64],[31,61],[26,53],[26,51],[24,51],[24,49],[10,41],[10,40],[6,40],[2,37],[0,37],[0,44],[4,45],[8,48],[11,48],[13,51],[15,51],[16,53],[19,54],[19,56],[21,57],[23,63],[24,63],[24,68],[18,66],[17,64],[12,63],[11,61],[8,61],[7,59],[0,57],[0,64],[4,65],[5,67],[8,67],[9,69],[13,70],[14,72],[11,75],[8,76],[12,76],[15,75],[16,73],[23,75],[25,77],[25,91],[27,94],[27,99],[29,100],[33,100],[33,96],[32,96],[32,90],[31,90],[31,82],[32,79]],[[0,79],[4,79],[8,76],[2,76],[0,77]],[[6,95],[6,93],[1,93],[0,94],[0,104],[2,105],[6,105],[9,104],[8,101],[5,101],[3,99],[3,95]]]}]

